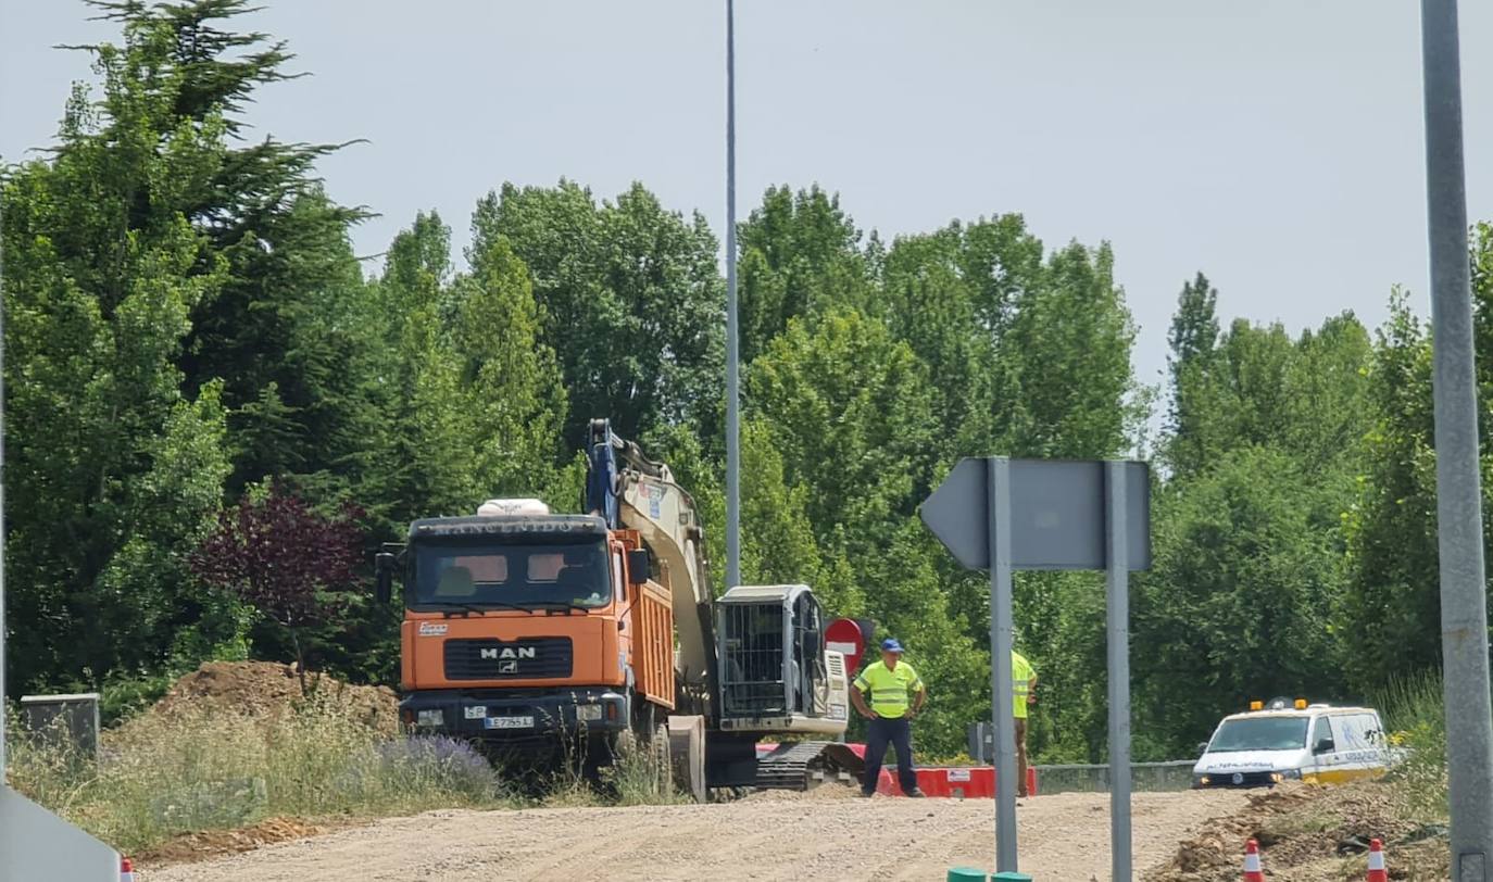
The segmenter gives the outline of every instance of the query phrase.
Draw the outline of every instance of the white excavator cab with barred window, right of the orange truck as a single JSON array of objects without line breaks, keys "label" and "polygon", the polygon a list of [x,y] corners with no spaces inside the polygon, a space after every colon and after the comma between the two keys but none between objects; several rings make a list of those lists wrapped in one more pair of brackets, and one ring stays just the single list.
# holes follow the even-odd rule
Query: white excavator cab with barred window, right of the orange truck
[{"label": "white excavator cab with barred window, right of the orange truck", "polygon": [[715,610],[723,730],[845,731],[845,657],[824,651],[827,622],[808,585],[736,587]]}]

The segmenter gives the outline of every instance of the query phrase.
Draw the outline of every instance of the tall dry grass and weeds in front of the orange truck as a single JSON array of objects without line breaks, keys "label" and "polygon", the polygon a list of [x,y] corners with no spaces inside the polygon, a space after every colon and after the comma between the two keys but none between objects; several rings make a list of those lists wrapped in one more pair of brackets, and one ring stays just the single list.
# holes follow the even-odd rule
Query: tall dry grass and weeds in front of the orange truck
[{"label": "tall dry grass and weeds in front of the orange truck", "polygon": [[127,854],[266,818],[682,801],[660,786],[645,748],[624,748],[597,784],[558,773],[539,797],[521,795],[463,742],[379,734],[317,697],[275,716],[221,706],[136,715],[105,733],[97,758],[37,734],[9,730],[9,784]]}]

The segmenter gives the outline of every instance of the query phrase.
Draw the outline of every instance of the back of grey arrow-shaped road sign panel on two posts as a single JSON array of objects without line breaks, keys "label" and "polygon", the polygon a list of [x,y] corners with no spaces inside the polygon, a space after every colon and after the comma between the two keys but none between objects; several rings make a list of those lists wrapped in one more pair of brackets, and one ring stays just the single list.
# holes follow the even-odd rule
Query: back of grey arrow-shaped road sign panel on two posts
[{"label": "back of grey arrow-shaped road sign panel on two posts", "polygon": [[[984,458],[964,458],[923,503],[923,522],[972,570],[990,569],[990,491]],[[1151,567],[1151,476],[1126,464],[1127,569]],[[1011,460],[1011,566],[1105,569],[1105,464]]]}]

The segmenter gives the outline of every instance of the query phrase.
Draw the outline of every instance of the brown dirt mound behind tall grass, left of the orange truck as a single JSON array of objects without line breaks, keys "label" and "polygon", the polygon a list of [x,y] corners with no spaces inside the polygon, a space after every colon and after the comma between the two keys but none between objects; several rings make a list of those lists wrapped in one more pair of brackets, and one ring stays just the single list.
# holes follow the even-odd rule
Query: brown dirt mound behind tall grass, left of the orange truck
[{"label": "brown dirt mound behind tall grass, left of the orange truck", "polygon": [[399,698],[388,686],[355,686],[309,673],[302,691],[296,669],[273,661],[209,661],[176,681],[151,713],[218,706],[251,716],[273,716],[308,700],[345,709],[379,731],[399,731]]}]

